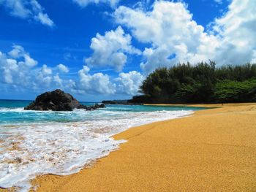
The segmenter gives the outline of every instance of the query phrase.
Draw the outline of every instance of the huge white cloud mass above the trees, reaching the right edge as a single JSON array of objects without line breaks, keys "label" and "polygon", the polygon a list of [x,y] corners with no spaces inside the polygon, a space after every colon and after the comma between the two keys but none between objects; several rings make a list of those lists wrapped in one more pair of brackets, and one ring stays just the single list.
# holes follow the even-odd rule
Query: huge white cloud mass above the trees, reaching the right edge
[{"label": "huge white cloud mass above the trees, reaching the right edge", "polygon": [[120,6],[113,17],[138,41],[151,44],[140,64],[147,74],[159,66],[187,61],[211,59],[219,65],[255,61],[255,10],[253,0],[233,0],[207,32],[181,1],[155,1],[150,11]]}]

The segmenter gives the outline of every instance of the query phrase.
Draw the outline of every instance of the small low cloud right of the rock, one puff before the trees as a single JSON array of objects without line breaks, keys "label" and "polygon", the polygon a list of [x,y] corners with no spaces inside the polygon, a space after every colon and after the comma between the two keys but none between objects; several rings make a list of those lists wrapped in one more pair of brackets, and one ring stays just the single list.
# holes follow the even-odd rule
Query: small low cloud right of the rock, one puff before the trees
[{"label": "small low cloud right of the rock, one puff before the trees", "polygon": [[89,74],[89,67],[83,66],[78,72],[78,89],[84,93],[113,94],[116,92],[116,84],[110,82],[108,74]]}]

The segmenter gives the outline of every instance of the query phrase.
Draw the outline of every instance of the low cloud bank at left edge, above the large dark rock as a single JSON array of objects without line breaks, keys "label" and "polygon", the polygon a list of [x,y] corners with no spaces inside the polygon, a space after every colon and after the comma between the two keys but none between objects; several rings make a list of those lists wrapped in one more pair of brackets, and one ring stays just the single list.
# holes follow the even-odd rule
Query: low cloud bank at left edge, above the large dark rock
[{"label": "low cloud bank at left edge, above the large dark rock", "polygon": [[[65,70],[64,65],[59,66]],[[72,82],[62,80],[57,69],[58,66],[38,66],[38,62],[20,45],[13,45],[9,53],[0,52],[0,82],[4,85],[32,90],[71,88]]]}]

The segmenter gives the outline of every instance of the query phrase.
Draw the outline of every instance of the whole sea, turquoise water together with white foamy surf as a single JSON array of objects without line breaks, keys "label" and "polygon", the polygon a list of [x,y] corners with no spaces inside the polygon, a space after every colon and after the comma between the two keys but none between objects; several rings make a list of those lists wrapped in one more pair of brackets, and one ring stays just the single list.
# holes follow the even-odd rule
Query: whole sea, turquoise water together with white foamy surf
[{"label": "whole sea, turquoise water together with white foamy surf", "polygon": [[114,140],[114,134],[134,126],[192,115],[203,109],[111,104],[94,111],[23,110],[30,102],[0,100],[1,188],[29,191],[30,180],[37,175],[79,172],[127,142]]}]

